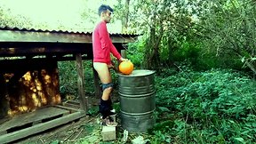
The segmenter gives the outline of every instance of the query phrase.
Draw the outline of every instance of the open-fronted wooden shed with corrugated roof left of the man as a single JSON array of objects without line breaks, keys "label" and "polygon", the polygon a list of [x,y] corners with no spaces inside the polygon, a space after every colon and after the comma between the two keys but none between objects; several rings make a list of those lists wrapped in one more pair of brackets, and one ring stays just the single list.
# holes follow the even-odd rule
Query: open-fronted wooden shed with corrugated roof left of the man
[{"label": "open-fronted wooden shed with corrugated roof left of the man", "polygon": [[[119,52],[137,36],[110,34]],[[78,108],[61,103],[57,65],[61,60],[76,60]],[[90,32],[0,28],[0,143],[85,116],[83,60],[92,60]],[[100,94],[94,77],[95,92]]]}]

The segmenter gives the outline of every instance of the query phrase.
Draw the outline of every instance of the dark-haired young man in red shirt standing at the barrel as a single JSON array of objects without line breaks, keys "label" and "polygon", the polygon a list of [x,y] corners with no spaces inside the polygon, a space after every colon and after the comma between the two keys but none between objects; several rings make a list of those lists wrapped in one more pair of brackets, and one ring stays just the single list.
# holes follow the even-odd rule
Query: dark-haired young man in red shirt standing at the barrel
[{"label": "dark-haired young man in red shirt standing at the barrel", "polygon": [[106,124],[111,124],[109,116],[114,114],[110,93],[113,89],[113,83],[109,68],[114,68],[110,59],[110,52],[117,60],[124,61],[120,53],[116,51],[116,47],[108,34],[107,23],[111,20],[113,9],[105,4],[100,5],[99,15],[100,22],[92,32],[92,50],[93,50],[93,68],[97,71],[102,83],[102,96],[100,99],[99,111],[102,119],[106,120]]}]

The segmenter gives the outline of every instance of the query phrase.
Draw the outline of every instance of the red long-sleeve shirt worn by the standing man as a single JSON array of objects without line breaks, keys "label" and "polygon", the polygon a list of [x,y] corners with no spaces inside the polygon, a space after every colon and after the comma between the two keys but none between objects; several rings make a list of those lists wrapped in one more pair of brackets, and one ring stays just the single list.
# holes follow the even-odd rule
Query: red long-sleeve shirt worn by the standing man
[{"label": "red long-sleeve shirt worn by the standing man", "polygon": [[119,60],[121,55],[108,34],[107,23],[100,21],[92,32],[93,62],[104,62],[111,64],[110,52]]}]

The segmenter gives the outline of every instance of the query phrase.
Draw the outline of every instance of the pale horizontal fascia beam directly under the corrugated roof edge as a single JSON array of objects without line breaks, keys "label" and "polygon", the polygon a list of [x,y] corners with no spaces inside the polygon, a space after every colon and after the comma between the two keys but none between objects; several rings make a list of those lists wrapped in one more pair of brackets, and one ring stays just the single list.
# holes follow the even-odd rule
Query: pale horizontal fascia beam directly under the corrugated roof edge
[{"label": "pale horizontal fascia beam directly under the corrugated roof edge", "polygon": [[[138,35],[110,34],[113,43],[131,43]],[[46,42],[92,44],[92,33],[0,30],[0,42]]]}]

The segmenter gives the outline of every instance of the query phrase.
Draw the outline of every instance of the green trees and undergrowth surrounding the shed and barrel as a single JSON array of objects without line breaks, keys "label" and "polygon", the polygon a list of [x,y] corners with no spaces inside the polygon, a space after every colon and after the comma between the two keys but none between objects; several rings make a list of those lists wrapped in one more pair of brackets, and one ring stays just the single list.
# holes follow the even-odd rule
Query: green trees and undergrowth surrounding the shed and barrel
[{"label": "green trees and undergrowth surrounding the shed and barrel", "polygon": [[[89,0],[86,2],[90,4]],[[122,20],[123,32],[143,34],[125,46],[128,59],[135,69],[156,70],[156,125],[141,135],[157,144],[256,143],[256,2],[116,3],[114,20]],[[8,12],[1,8],[0,16]],[[81,16],[90,17],[88,13]],[[1,19],[4,22],[0,26],[20,26],[28,21],[32,27],[30,20],[21,18]],[[61,95],[65,99],[73,95],[76,99],[75,61],[61,61],[59,68]],[[84,90],[93,96],[92,62],[84,61],[84,69]],[[117,85],[116,75],[113,80]],[[114,95],[118,97],[117,93]],[[96,116],[97,108],[88,113]],[[98,139],[94,136],[91,139]],[[129,136],[128,142],[137,135]],[[119,131],[116,142],[121,143],[122,137]],[[80,141],[86,143],[88,139],[86,136]]]}]

